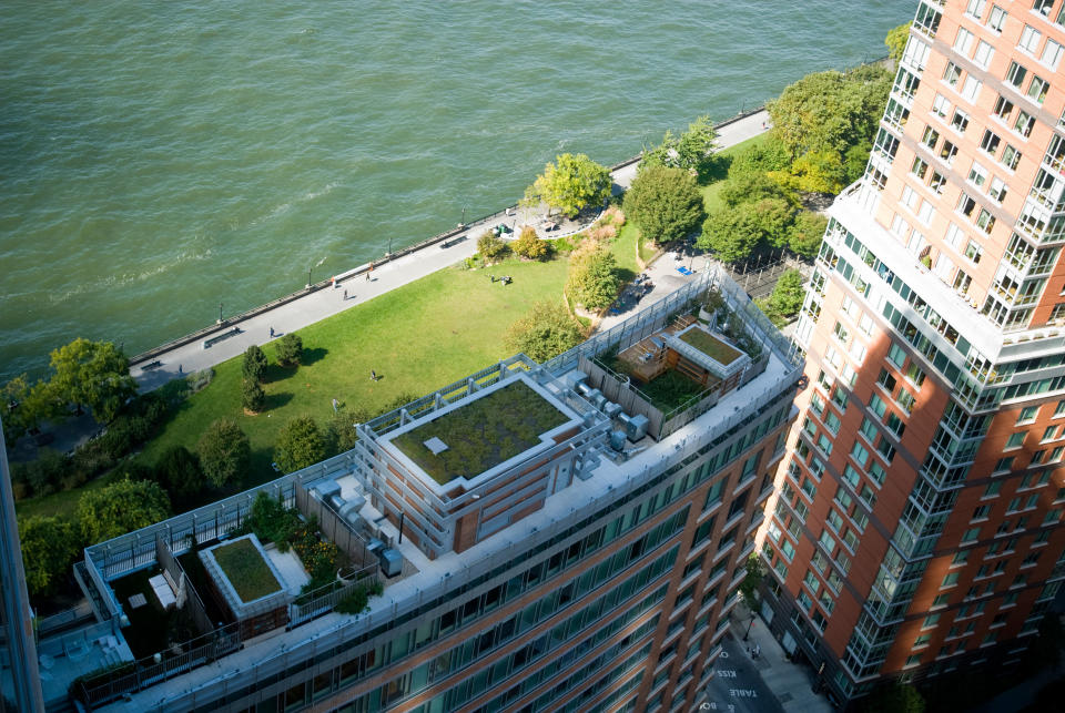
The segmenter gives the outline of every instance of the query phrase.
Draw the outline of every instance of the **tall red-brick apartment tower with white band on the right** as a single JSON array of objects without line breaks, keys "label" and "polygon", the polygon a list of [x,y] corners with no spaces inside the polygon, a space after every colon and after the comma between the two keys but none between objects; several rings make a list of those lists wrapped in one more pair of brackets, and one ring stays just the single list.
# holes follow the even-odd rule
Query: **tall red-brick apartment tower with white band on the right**
[{"label": "tall red-brick apartment tower with white band on the right", "polygon": [[840,702],[1008,664],[1065,577],[1065,2],[922,0],[831,208],[763,617]]}]

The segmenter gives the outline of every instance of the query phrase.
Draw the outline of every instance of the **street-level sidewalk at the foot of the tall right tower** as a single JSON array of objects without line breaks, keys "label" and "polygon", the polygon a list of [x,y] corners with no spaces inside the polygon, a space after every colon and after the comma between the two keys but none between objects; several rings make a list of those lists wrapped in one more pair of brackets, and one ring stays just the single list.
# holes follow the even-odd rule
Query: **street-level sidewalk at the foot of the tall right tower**
[{"label": "street-level sidewalk at the foot of the tall right tower", "polygon": [[[749,610],[740,601],[732,610],[731,618],[732,632],[744,650],[753,649],[755,645],[761,646],[760,655],[753,661],[754,666],[762,682],[773,692],[784,710],[803,713],[832,713],[835,710],[825,697],[813,692],[814,672],[788,660],[784,650],[773,638],[761,617],[754,617],[752,623]],[[750,625],[750,635],[747,641],[743,641],[748,625]]]}]

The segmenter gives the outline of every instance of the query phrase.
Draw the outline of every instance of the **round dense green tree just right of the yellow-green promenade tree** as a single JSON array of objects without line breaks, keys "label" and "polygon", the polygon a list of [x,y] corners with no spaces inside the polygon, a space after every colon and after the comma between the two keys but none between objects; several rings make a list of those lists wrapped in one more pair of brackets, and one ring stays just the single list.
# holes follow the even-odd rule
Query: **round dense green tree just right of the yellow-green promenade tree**
[{"label": "round dense green tree just right of the yellow-green promenade tree", "polygon": [[694,177],[668,166],[640,169],[625,194],[625,213],[656,243],[680,240],[699,227],[707,216],[702,205]]}]

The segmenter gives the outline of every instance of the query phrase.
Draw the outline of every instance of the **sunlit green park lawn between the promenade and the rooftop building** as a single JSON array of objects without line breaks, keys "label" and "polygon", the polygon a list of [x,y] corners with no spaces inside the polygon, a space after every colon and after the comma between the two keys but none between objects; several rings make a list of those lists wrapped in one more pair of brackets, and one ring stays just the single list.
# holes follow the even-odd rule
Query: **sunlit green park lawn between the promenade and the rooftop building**
[{"label": "sunlit green park lawn between the promenade and the rooftop building", "polygon": [[[276,366],[273,345],[266,345],[266,409],[257,416],[245,416],[241,407],[241,357],[220,364],[211,385],[182,404],[139,461],[151,466],[173,446],[195,450],[211,421],[231,418],[252,446],[252,466],[241,487],[265,482],[276,477],[273,445],[288,420],[310,415],[324,426],[333,398],[376,412],[400,395],[427,394],[511,356],[504,344],[507,328],[535,302],[561,298],[566,267],[564,259],[508,259],[485,269],[452,267],[427,275],[300,329],[305,364],[295,369]],[[489,273],[514,282],[491,283]],[[371,380],[371,369],[378,380]]]}]

